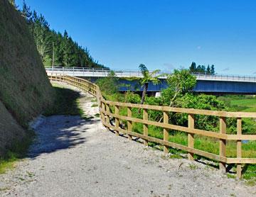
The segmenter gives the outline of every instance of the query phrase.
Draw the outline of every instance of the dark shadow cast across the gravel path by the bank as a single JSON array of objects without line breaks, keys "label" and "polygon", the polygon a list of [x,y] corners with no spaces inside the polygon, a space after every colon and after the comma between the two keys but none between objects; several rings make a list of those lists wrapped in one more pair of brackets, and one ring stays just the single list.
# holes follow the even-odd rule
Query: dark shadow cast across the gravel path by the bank
[{"label": "dark shadow cast across the gravel path by the bank", "polygon": [[68,149],[86,142],[87,125],[99,120],[83,120],[80,116],[50,116],[36,128],[36,139],[28,157]]}]

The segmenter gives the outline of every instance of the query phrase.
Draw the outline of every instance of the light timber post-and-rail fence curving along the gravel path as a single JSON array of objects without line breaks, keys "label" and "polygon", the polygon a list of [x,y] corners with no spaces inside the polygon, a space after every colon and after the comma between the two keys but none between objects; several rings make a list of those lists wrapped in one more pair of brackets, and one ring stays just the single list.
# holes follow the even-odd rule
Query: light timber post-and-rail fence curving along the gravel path
[{"label": "light timber post-and-rail fence curving along the gravel path", "polygon": [[[106,101],[102,98],[100,88],[96,84],[85,79],[70,76],[49,76],[50,80],[64,81],[73,86],[88,91],[93,96],[97,97],[97,101],[100,108],[100,118],[102,124],[105,127],[114,130],[116,135],[124,133],[128,135],[128,138],[132,140],[132,136],[139,137],[144,140],[144,145],[148,145],[148,142],[156,142],[159,145],[164,146],[164,154],[169,152],[169,147],[176,148],[178,150],[184,150],[188,152],[188,159],[193,160],[193,154],[198,154],[203,157],[213,159],[219,162],[220,170],[225,172],[227,164],[237,164],[237,176],[242,176],[242,164],[256,164],[256,158],[242,158],[242,140],[256,140],[256,135],[242,135],[242,118],[256,118],[256,113],[245,113],[245,112],[226,112],[226,111],[208,111],[198,110],[193,108],[172,108],[169,106],[150,106],[140,105],[132,103],[119,103],[114,101]],[[110,108],[114,108],[114,113],[111,113]],[[119,115],[119,108],[127,108],[127,116]],[[133,118],[132,108],[138,108],[143,111],[143,118]],[[148,120],[148,111],[162,111],[163,123]],[[188,114],[188,126],[171,125],[169,124],[169,112],[185,113]],[[195,118],[194,116],[205,115],[205,116],[216,116],[220,121],[219,133],[208,130],[199,130],[194,128]],[[236,118],[237,120],[237,134],[230,135],[226,134],[226,118]],[[114,119],[114,124],[110,123],[110,119]],[[127,120],[127,130],[120,127],[120,120]],[[133,123],[143,124],[143,134],[135,133],[132,131]],[[164,137],[159,139],[148,135],[149,125],[154,125],[163,129]],[[169,142],[169,130],[178,130],[184,133],[188,133],[188,146],[180,145],[174,142]],[[219,154],[213,154],[203,150],[198,150],[194,147],[194,135],[202,135],[206,137],[213,137],[219,141]],[[226,142],[227,140],[234,140],[237,144],[237,154],[235,158],[226,157]]]}]

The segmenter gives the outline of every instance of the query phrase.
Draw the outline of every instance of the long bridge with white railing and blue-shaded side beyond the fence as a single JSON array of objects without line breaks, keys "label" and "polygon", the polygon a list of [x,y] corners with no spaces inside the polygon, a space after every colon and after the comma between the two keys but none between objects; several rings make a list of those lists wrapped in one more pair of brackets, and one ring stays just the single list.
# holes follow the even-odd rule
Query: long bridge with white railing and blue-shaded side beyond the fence
[{"label": "long bridge with white railing and blue-shaded side beyond the fence", "polygon": [[[129,81],[124,78],[137,77],[141,78],[142,73],[139,70],[132,69],[112,69],[120,79],[120,91],[142,91],[138,81]],[[107,77],[110,74],[110,69],[92,69],[78,67],[53,67],[46,68],[48,75],[67,74],[75,77],[90,78],[95,81],[100,77]],[[162,71],[160,74],[171,74],[168,71]],[[240,76],[227,74],[194,74],[197,79],[196,87],[193,91],[209,93],[209,94],[256,94],[256,76]],[[157,92],[165,89],[166,76],[159,77],[160,84],[149,84],[149,91]]]}]

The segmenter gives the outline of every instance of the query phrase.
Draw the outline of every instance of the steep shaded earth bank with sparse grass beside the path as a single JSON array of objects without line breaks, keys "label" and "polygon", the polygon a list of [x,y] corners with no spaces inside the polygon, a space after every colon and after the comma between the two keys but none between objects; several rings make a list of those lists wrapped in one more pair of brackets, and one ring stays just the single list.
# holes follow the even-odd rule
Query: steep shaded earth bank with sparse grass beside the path
[{"label": "steep shaded earth bank with sparse grass beside the path", "polygon": [[7,0],[0,0],[0,81],[1,155],[23,137],[18,124],[26,126],[53,98],[26,21]]}]

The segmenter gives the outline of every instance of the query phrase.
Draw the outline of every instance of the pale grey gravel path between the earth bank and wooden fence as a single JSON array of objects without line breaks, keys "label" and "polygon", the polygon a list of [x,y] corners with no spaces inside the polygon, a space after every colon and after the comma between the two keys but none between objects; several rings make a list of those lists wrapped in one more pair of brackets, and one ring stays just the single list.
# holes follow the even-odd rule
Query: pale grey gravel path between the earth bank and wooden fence
[{"label": "pale grey gravel path between the earth bank and wooden fence", "polygon": [[[81,96],[95,117],[92,96]],[[36,133],[29,157],[0,175],[0,196],[256,196],[215,168],[117,137],[100,118],[42,118]]]}]

